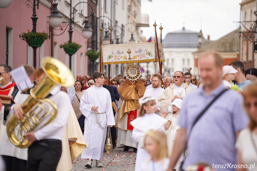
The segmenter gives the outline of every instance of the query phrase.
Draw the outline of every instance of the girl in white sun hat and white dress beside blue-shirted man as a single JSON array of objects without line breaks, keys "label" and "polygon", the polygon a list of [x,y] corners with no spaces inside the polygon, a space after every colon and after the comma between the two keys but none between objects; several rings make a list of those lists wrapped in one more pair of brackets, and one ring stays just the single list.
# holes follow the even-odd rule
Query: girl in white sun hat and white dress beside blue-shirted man
[{"label": "girl in white sun hat and white dress beside blue-shirted man", "polygon": [[[172,153],[172,148],[174,145],[175,137],[177,135],[177,131],[179,130],[179,126],[177,125],[177,119],[179,117],[179,109],[182,108],[182,99],[176,98],[172,103],[172,114],[168,116],[168,123],[164,125],[165,130],[169,130],[167,132],[167,144],[168,144],[168,150],[169,154]],[[163,112],[161,115],[163,118],[166,117],[166,112]],[[181,159],[183,160],[184,153],[181,155]],[[174,167],[174,169],[177,168],[177,165]]]}]

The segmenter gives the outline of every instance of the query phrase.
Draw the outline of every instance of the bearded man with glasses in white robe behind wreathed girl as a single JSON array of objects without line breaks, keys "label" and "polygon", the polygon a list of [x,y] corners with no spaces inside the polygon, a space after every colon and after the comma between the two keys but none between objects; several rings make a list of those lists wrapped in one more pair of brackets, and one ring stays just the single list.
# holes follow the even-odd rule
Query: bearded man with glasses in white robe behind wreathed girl
[{"label": "bearded man with glasses in white robe behind wreathed girl", "polygon": [[152,88],[145,90],[144,97],[143,97],[143,98],[155,97],[155,102],[156,102],[155,113],[159,115],[161,115],[161,112],[157,101],[161,97],[162,93],[164,92],[164,89],[161,88],[161,79],[162,79],[161,74],[158,74],[158,73],[152,74]]}]

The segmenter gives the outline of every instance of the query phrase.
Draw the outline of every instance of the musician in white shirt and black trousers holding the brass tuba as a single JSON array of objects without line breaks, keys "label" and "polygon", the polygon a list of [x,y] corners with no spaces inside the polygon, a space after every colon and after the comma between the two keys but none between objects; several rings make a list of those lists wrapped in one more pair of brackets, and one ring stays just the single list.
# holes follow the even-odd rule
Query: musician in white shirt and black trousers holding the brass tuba
[{"label": "musician in white shirt and black trousers holding the brass tuba", "polygon": [[[61,140],[63,139],[63,129],[70,114],[70,98],[67,93],[60,91],[58,87],[52,89],[50,94],[51,96],[48,98],[57,105],[57,116],[48,125],[25,134],[26,139],[31,144],[28,149],[28,171],[55,171],[62,153]],[[22,106],[23,104],[16,104],[13,107],[17,119],[23,117]],[[42,112],[46,112],[48,107],[45,104],[42,104],[42,106]]]}]

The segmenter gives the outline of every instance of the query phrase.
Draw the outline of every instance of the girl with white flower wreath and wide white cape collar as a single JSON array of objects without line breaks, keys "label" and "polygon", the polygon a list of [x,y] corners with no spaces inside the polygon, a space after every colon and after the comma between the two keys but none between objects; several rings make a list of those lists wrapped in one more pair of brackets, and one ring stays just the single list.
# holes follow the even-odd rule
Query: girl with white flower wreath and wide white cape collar
[{"label": "girl with white flower wreath and wide white cape collar", "polygon": [[[161,130],[165,131],[164,124],[167,122],[166,119],[162,118],[160,115],[155,114],[155,98],[146,97],[141,101],[141,108],[139,111],[139,117],[135,120],[132,120],[130,124],[134,127],[132,131],[132,138],[136,142],[139,142],[139,139],[143,139],[144,134],[149,130]],[[150,158],[149,153],[144,150],[142,147],[142,141],[138,144],[136,162],[135,162],[135,171],[140,171],[140,164],[145,162]],[[144,146],[144,144],[143,144]]]}]

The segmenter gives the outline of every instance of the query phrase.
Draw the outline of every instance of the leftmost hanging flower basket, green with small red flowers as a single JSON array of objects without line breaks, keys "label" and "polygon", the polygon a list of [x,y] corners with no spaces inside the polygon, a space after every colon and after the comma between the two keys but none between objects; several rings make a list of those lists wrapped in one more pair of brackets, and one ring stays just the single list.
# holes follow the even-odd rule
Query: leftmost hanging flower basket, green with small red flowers
[{"label": "leftmost hanging flower basket, green with small red flowers", "polygon": [[19,34],[19,37],[21,40],[25,40],[28,46],[41,47],[44,41],[48,39],[48,34],[44,31],[33,33],[28,30],[27,33],[23,32],[22,34]]}]

